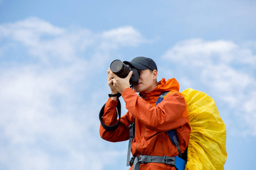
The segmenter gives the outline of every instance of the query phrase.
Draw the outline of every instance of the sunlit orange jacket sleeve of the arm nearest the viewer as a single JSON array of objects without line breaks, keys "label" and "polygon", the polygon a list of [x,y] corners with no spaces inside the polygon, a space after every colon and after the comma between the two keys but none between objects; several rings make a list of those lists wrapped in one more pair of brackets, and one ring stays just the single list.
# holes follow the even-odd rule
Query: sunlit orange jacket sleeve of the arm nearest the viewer
[{"label": "sunlit orange jacket sleeve of the arm nearest the viewer", "polygon": [[173,92],[156,106],[141,99],[133,90],[127,88],[122,93],[126,109],[138,118],[148,129],[167,131],[187,124],[188,118],[183,117],[186,109],[184,97],[179,92]]}]

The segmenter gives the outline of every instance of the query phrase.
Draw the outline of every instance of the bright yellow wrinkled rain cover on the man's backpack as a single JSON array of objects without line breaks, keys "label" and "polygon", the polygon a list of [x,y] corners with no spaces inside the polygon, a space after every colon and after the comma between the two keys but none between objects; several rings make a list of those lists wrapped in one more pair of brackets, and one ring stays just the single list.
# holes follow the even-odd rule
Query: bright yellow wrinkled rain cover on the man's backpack
[{"label": "bright yellow wrinkled rain cover on the man's backpack", "polygon": [[188,88],[185,97],[191,135],[185,169],[224,169],[226,162],[226,126],[212,97]]}]

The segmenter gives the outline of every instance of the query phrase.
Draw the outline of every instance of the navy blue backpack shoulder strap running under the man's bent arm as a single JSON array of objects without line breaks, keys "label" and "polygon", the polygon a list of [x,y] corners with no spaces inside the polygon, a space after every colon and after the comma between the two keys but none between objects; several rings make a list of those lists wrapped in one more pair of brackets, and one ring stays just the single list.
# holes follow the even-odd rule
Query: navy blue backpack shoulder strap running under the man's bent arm
[{"label": "navy blue backpack shoulder strap running under the man's bent arm", "polygon": [[[158,100],[156,100],[155,105],[157,105],[158,103],[163,101],[164,96],[166,96],[167,94],[168,94],[168,91],[163,92],[163,94],[158,97]],[[168,134],[169,138],[171,139],[172,144],[174,144],[176,146],[177,151],[179,152],[179,157],[182,158],[181,151],[180,151],[180,146],[179,146],[179,141],[178,141],[175,130],[171,129],[171,130],[166,131],[166,133]]]}]

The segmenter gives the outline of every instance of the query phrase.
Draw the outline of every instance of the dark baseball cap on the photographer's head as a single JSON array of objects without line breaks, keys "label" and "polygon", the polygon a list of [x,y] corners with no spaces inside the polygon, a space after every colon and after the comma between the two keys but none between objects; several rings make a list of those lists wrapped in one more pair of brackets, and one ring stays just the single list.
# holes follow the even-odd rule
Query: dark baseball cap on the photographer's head
[{"label": "dark baseball cap on the photographer's head", "polygon": [[156,63],[153,61],[153,59],[148,57],[135,57],[131,61],[124,61],[126,65],[131,65],[135,67],[135,69],[138,70],[156,70],[158,71],[158,67],[156,67]]}]

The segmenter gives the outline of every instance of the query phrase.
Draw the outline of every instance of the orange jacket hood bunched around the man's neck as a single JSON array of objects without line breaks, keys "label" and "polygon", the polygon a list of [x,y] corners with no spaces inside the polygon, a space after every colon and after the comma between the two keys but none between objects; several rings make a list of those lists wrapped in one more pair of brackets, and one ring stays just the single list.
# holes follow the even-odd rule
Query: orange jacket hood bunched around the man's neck
[{"label": "orange jacket hood bunched around the man's neck", "polygon": [[148,98],[150,99],[151,97],[160,96],[164,91],[179,91],[179,89],[180,84],[175,78],[171,78],[168,80],[162,78],[162,80],[158,82],[158,86],[156,86],[154,90],[150,92],[141,92],[139,93],[139,96],[141,96],[143,99],[147,98],[148,100]]}]

